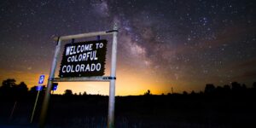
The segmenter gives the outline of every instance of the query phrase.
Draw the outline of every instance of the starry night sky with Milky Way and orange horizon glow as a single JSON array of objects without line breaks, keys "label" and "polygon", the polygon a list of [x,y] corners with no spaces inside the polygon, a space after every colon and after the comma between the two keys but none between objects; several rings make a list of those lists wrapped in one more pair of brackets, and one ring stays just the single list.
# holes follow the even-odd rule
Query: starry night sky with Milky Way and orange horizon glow
[{"label": "starry night sky with Milky Way and orange horizon glow", "polygon": [[[116,95],[199,92],[256,81],[253,0],[9,0],[0,3],[0,80],[48,77],[57,36],[119,25]],[[111,36],[106,75],[109,74]],[[84,38],[95,40],[96,38]],[[82,41],[84,41],[82,39]],[[66,41],[70,43],[71,41]],[[61,53],[64,45],[62,45]],[[59,56],[59,63],[61,55]],[[58,68],[55,76],[58,76]],[[44,84],[46,82],[44,81]],[[60,83],[55,93],[108,95],[108,83]]]}]

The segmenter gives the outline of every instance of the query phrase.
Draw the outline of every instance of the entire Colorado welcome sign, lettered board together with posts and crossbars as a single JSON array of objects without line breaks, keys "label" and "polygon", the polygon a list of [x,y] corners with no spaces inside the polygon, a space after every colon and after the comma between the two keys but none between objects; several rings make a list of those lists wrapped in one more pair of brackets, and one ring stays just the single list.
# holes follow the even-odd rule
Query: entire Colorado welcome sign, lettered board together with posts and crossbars
[{"label": "entire Colorado welcome sign, lettered board together with posts and crossbars", "polygon": [[[57,59],[60,54],[61,41],[89,38],[103,35],[113,35],[112,54],[111,54],[111,70],[110,76],[104,75],[105,55],[107,49],[107,40],[97,40],[91,42],[80,42],[66,44],[63,52],[60,78],[55,78],[55,68]],[[63,36],[55,38],[57,45],[55,47],[55,55],[49,73],[46,94],[42,112],[40,115],[39,127],[44,127],[47,109],[49,106],[50,90],[53,82],[79,82],[79,81],[106,81],[109,82],[109,101],[108,101],[108,128],[114,127],[114,96],[115,96],[115,80],[116,80],[116,56],[117,56],[117,34],[118,27],[114,24],[113,30],[108,32],[90,32],[77,35]],[[105,54],[104,54],[105,53]]]}]

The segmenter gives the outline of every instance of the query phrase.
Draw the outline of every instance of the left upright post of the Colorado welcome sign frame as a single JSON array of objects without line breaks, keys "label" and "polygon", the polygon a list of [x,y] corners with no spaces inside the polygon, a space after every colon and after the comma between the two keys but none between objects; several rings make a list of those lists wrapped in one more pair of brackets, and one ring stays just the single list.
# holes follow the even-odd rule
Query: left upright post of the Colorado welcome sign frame
[{"label": "left upright post of the Colorado welcome sign frame", "polygon": [[39,123],[40,128],[44,128],[44,125],[45,125],[45,118],[46,118],[47,109],[48,109],[48,105],[49,105],[50,90],[51,90],[51,86],[52,86],[52,79],[55,77],[55,68],[57,66],[57,59],[58,59],[58,55],[60,53],[60,49],[61,49],[61,39],[59,38],[57,41],[57,45],[55,48],[55,56],[52,61],[51,70],[49,73],[47,89],[46,89],[45,95],[44,95],[43,108],[42,108],[42,112],[40,115],[40,123]]}]

